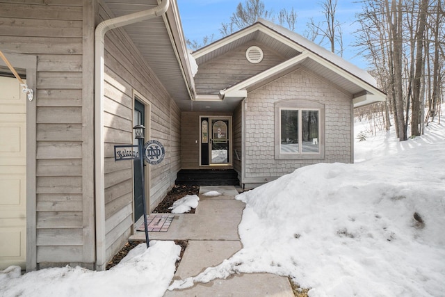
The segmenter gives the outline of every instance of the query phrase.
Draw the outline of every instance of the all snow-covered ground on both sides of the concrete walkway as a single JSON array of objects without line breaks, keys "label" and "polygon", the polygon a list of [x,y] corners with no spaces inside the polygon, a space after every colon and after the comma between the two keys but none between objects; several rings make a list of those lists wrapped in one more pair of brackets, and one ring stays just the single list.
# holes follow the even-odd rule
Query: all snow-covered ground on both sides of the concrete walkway
[{"label": "all snow-covered ground on both sides of the concrete walkway", "polygon": [[444,148],[435,123],[402,143],[392,131],[368,136],[355,143],[355,164],[307,166],[238,195],[243,249],[170,287],[179,246],[152,241],[111,271],[11,267],[0,296],[162,296],[260,271],[290,275],[309,296],[444,296]]}]

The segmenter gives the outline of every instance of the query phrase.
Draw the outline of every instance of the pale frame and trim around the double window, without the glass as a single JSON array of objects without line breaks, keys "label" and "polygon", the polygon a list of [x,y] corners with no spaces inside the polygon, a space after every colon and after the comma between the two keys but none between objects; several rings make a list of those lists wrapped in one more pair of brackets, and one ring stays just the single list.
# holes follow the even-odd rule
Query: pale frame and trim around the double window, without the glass
[{"label": "pale frame and trim around the double window, without the glass", "polygon": [[[281,151],[281,111],[298,110],[298,152]],[[318,152],[302,152],[302,111],[318,111]],[[307,99],[283,100],[275,103],[275,159],[322,160],[325,158],[325,106]]]}]

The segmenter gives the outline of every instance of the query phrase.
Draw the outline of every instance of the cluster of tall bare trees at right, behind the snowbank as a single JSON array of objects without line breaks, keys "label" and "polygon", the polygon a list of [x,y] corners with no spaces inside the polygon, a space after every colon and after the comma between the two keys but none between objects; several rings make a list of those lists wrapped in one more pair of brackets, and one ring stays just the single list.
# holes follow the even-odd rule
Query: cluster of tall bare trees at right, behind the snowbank
[{"label": "cluster of tall bare trees at right, behind the snowbank", "polygon": [[[388,94],[398,138],[423,133],[444,96],[443,0],[363,0],[358,45]],[[443,100],[443,99],[442,99]],[[426,120],[424,107],[428,104]]]}]

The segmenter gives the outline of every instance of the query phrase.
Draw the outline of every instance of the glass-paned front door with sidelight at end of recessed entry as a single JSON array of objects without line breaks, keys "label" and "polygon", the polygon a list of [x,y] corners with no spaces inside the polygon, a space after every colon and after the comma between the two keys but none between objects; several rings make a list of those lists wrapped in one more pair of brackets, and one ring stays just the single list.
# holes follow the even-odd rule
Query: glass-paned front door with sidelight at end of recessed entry
[{"label": "glass-paned front door with sidelight at end of recessed entry", "polygon": [[201,165],[232,165],[232,117],[201,117]]}]

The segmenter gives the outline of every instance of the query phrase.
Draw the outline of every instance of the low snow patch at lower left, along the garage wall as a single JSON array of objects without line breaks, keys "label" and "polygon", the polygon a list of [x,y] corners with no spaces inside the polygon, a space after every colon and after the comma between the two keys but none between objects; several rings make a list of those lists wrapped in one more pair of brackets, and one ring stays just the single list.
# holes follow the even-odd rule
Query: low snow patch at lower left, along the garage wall
[{"label": "low snow patch at lower left, along the garage wall", "polygon": [[173,241],[141,243],[109,271],[66,266],[20,276],[19,266],[0,272],[0,296],[163,296],[181,247]]}]

